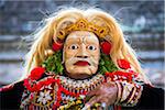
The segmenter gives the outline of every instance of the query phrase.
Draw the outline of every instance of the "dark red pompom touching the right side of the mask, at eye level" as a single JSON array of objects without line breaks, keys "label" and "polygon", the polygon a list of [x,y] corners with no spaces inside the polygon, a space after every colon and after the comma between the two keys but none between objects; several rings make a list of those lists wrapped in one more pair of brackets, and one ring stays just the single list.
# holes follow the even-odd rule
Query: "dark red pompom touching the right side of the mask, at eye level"
[{"label": "dark red pompom touching the right side of the mask, at eye level", "polygon": [[111,51],[111,44],[109,42],[102,42],[101,43],[101,50],[106,55],[109,55],[110,51]]}]

